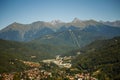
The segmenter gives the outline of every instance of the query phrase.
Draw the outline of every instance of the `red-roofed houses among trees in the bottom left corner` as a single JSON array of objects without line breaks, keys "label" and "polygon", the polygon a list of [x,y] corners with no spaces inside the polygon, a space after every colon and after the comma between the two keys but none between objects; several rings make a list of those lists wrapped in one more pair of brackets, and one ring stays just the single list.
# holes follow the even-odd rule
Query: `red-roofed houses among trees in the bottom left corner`
[{"label": "red-roofed houses among trees in the bottom left corner", "polygon": [[51,72],[33,68],[23,72],[3,73],[0,80],[46,80],[50,77],[52,77]]}]

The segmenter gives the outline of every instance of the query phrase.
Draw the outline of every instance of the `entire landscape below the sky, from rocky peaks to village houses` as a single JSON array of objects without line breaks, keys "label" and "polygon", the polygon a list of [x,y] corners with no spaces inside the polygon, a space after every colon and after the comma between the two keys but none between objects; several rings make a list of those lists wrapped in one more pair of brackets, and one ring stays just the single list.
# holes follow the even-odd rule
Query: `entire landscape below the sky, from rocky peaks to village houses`
[{"label": "entire landscape below the sky, from rocky peaks to village houses", "polygon": [[1,80],[119,80],[120,27],[95,20],[0,30]]}]

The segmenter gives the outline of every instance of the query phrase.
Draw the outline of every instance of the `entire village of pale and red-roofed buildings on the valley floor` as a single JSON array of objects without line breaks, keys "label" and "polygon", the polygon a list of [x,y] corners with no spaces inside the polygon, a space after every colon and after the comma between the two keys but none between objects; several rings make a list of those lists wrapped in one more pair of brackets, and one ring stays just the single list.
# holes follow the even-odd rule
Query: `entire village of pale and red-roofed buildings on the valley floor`
[{"label": "entire village of pale and red-roofed buildings on the valley floor", "polygon": [[71,56],[43,60],[40,63],[23,61],[29,70],[0,74],[1,80],[97,80],[90,73],[76,72],[71,68]]}]

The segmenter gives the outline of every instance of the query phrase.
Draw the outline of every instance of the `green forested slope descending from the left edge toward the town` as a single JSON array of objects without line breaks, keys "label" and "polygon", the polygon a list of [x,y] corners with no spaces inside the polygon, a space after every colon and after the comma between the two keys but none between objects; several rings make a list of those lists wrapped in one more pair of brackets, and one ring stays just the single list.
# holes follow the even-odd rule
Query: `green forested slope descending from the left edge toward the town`
[{"label": "green forested slope descending from the left edge toward the town", "polygon": [[58,54],[64,54],[67,50],[70,49],[68,47],[0,39],[0,73],[24,70],[27,66],[19,60],[39,62],[42,59],[54,58]]}]

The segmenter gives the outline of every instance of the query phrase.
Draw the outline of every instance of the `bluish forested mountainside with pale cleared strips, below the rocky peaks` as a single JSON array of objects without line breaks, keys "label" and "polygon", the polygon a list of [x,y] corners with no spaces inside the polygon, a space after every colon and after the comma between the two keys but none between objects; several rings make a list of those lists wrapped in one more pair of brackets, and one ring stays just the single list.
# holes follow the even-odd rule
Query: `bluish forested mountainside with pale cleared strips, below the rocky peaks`
[{"label": "bluish forested mountainside with pale cleared strips, below the rocky peaks", "polygon": [[107,25],[88,26],[82,30],[75,26],[69,26],[68,28],[63,26],[59,30],[52,34],[43,35],[33,40],[33,42],[78,48],[78,45],[83,47],[95,40],[103,40],[120,35],[120,28]]}]

